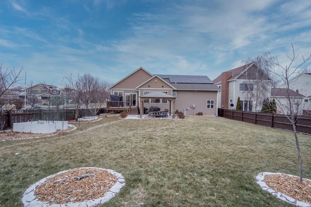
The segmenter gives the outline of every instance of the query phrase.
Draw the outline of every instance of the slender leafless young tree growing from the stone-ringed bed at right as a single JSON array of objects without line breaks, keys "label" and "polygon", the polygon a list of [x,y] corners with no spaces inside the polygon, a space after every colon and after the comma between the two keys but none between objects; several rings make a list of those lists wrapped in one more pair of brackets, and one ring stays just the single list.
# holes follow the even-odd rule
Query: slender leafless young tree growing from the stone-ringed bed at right
[{"label": "slender leafless young tree growing from the stone-ringed bed at right", "polygon": [[[299,106],[301,107],[301,103],[297,101],[297,97],[294,94],[294,91],[290,89],[290,80],[292,77],[296,76],[297,74],[304,71],[304,69],[310,64],[311,62],[311,54],[307,56],[306,58],[302,55],[302,61],[300,64],[295,64],[297,61],[298,55],[295,54],[294,46],[292,44],[292,50],[293,54],[292,56],[288,56],[289,64],[285,67],[279,64],[277,58],[274,62],[276,66],[278,66],[277,69],[280,70],[280,72],[276,71],[275,69],[271,70],[273,74],[275,74],[280,82],[282,83],[282,89],[279,90],[282,93],[282,100],[276,96],[276,93],[272,93],[273,98],[275,98],[278,109],[281,109],[282,113],[290,120],[293,131],[294,131],[294,137],[296,141],[296,148],[298,153],[298,161],[299,161],[299,176],[300,176],[300,183],[302,182],[302,161],[301,161],[301,153],[299,148],[299,142],[298,142],[298,136],[297,136],[297,130],[296,130],[296,120],[297,115],[299,111]],[[275,87],[276,88],[276,87]],[[284,101],[285,99],[285,101]]]}]

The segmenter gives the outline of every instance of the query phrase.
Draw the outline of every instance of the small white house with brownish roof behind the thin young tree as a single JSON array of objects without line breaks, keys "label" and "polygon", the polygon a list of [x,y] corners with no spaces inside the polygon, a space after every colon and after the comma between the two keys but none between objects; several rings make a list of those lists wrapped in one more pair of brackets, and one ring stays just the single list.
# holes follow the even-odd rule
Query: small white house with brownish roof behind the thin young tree
[{"label": "small white house with brownish roof behind the thin young tree", "polygon": [[290,114],[289,102],[294,105],[294,113],[302,115],[302,104],[305,96],[296,91],[287,88],[272,88],[271,98],[276,101],[276,110],[278,113]]}]

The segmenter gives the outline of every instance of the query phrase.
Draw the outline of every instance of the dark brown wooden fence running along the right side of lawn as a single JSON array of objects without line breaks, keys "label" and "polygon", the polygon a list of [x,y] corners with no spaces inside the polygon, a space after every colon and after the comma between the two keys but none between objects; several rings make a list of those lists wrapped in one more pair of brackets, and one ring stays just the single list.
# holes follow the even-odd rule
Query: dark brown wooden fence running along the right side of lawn
[{"label": "dark brown wooden fence running along the right side of lawn", "polygon": [[[218,116],[256,125],[293,131],[293,125],[290,120],[286,116],[280,114],[218,109]],[[296,117],[296,130],[300,133],[311,134],[311,118]]]}]

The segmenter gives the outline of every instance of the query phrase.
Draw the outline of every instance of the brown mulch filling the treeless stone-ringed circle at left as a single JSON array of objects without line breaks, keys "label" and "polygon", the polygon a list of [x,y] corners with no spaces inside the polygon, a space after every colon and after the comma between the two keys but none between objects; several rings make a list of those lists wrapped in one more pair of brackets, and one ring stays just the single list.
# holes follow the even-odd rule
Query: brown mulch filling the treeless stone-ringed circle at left
[{"label": "brown mulch filling the treeless stone-ringed circle at left", "polygon": [[118,178],[101,169],[73,169],[54,175],[35,189],[36,197],[51,204],[76,203],[104,197]]}]

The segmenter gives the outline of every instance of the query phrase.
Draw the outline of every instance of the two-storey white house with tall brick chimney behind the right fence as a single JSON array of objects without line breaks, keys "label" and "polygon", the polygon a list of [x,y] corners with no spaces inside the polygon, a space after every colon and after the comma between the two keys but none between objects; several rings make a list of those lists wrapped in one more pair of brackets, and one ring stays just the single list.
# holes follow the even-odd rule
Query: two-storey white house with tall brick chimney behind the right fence
[{"label": "two-storey white house with tall brick chimney behind the right fence", "polygon": [[219,87],[218,108],[235,109],[240,97],[243,111],[260,111],[270,97],[271,79],[255,63],[223,72],[213,82]]}]

